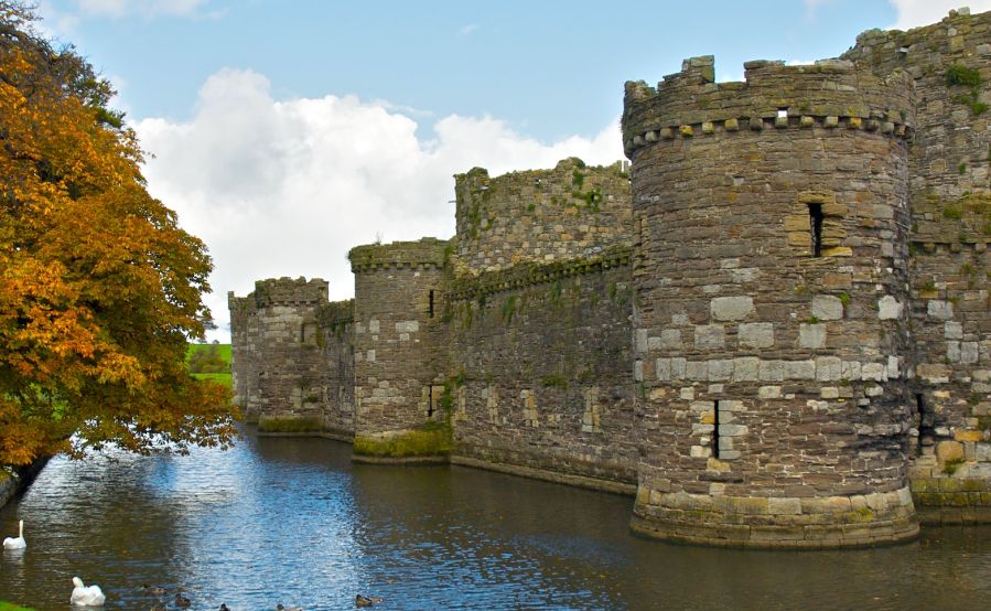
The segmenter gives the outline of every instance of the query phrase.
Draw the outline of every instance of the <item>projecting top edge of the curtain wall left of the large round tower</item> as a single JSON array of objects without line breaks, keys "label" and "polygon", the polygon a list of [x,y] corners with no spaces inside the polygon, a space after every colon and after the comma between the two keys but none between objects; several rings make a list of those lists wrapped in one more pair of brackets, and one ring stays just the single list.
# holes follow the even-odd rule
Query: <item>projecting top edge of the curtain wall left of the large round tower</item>
[{"label": "projecting top edge of the curtain wall left of the large round tower", "polygon": [[520,262],[513,267],[484,271],[478,276],[454,279],[448,290],[452,301],[473,299],[478,294],[492,294],[527,286],[542,285],[585,274],[599,274],[629,265],[633,249],[628,245],[610,247],[599,256],[564,259],[549,264]]}]

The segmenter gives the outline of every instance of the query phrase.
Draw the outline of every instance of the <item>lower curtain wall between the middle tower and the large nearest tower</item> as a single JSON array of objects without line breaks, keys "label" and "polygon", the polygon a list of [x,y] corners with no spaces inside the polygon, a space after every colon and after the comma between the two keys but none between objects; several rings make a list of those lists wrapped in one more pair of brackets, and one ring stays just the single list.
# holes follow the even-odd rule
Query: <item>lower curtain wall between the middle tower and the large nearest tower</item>
[{"label": "lower curtain wall between the middle tower and the large nearest tower", "polygon": [[614,248],[452,287],[454,462],[632,492],[629,272]]}]

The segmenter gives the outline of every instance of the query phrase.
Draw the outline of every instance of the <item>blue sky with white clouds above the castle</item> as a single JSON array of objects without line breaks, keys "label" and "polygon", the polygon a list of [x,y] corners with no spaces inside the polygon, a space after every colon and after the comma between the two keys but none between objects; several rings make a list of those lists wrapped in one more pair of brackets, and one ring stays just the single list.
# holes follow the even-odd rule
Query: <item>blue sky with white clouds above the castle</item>
[{"label": "blue sky with white clouds above the castle", "polygon": [[[118,90],[152,195],[214,259],[206,296],[324,278],[354,294],[356,245],[454,234],[453,174],[623,156],[625,81],[715,55],[834,57],[872,28],[961,0],[40,0],[42,30]],[[971,0],[972,12],[991,0]]]}]

